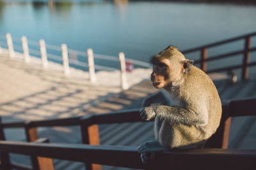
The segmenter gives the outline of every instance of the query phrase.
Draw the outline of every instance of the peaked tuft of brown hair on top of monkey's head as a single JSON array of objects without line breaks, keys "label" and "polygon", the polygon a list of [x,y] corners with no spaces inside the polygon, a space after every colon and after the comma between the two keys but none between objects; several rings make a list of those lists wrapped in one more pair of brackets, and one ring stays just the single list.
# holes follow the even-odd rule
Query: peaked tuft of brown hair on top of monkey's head
[{"label": "peaked tuft of brown hair on top of monkey's head", "polygon": [[152,64],[156,64],[161,62],[163,59],[176,59],[179,61],[185,60],[185,56],[179,52],[176,46],[168,46],[163,51],[159,52],[158,54],[151,57],[150,62]]}]

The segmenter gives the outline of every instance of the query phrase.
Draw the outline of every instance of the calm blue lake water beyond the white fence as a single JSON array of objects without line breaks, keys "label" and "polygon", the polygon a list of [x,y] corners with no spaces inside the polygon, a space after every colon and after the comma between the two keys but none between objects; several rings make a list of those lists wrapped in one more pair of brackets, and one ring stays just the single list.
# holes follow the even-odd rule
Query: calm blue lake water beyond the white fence
[{"label": "calm blue lake water beyond the white fence", "polygon": [[15,38],[24,35],[33,41],[45,39],[58,46],[67,43],[68,48],[84,52],[87,48],[114,56],[124,52],[126,57],[146,62],[168,45],[185,50],[254,31],[256,6],[252,5],[146,1],[0,3],[0,34],[10,32]]}]

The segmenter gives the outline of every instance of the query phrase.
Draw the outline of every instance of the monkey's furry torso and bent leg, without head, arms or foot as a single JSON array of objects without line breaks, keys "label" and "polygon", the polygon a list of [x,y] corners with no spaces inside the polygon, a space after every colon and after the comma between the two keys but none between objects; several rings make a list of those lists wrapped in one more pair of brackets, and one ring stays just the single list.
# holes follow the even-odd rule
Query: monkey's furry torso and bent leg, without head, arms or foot
[{"label": "monkey's furry torso and bent leg, without head, arms or foot", "polygon": [[[201,69],[191,67],[180,85],[180,104],[205,116],[204,125],[168,124],[165,120],[160,129],[160,141],[170,141],[170,148],[196,148],[205,143],[220,125],[221,101],[218,91],[211,78]],[[189,102],[188,102],[189,101]],[[200,115],[201,114],[201,115]],[[169,129],[166,131],[166,129]],[[164,131],[166,132],[164,132]],[[163,131],[163,132],[161,132]],[[165,136],[169,134],[169,136]],[[165,137],[164,137],[165,136]],[[167,143],[162,143],[164,146]]]}]

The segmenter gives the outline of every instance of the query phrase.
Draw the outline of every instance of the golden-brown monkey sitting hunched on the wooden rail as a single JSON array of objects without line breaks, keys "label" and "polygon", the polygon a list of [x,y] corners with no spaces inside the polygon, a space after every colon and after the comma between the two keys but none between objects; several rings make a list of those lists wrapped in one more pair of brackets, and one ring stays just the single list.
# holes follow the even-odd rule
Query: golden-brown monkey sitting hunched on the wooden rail
[{"label": "golden-brown monkey sitting hunched on the wooden rail", "polygon": [[[175,46],[168,46],[150,62],[152,85],[161,89],[144,99],[140,110],[143,120],[155,120],[155,139],[138,147],[146,164],[156,152],[202,148],[218,129],[221,100],[207,74],[188,60]],[[159,103],[152,106],[153,103]],[[150,153],[150,157],[146,153]]]}]

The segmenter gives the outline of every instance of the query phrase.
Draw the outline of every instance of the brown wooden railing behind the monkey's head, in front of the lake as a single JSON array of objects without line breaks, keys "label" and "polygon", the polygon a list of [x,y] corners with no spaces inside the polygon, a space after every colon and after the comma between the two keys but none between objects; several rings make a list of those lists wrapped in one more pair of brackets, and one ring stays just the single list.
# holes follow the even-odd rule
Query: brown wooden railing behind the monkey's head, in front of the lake
[{"label": "brown wooden railing behind the monkey's head, in front of the lake", "polygon": [[[253,32],[251,34],[246,34],[243,36],[239,36],[236,38],[226,39],[224,41],[218,41],[216,43],[211,43],[209,45],[199,46],[196,48],[192,48],[189,50],[185,50],[182,53],[184,55],[187,55],[191,52],[200,52],[200,59],[195,60],[195,64],[200,64],[200,68],[205,71],[206,73],[213,73],[213,72],[221,72],[221,71],[232,71],[233,69],[242,69],[241,71],[241,78],[242,80],[247,79],[249,76],[249,67],[250,66],[256,66],[256,62],[250,62],[250,52],[256,51],[256,46],[252,47],[252,37],[256,36],[256,32]],[[221,46],[221,45],[227,45],[228,43],[233,43],[236,41],[241,41],[244,39],[244,48],[243,50],[236,50],[234,52],[228,52],[223,53],[221,55],[215,55],[215,56],[207,56],[207,51],[209,48]],[[235,55],[243,54],[243,62],[242,64],[236,65],[236,66],[225,66],[218,69],[211,69],[207,70],[207,62],[212,60],[218,60],[218,59],[225,59],[227,57],[234,57]]]}]

